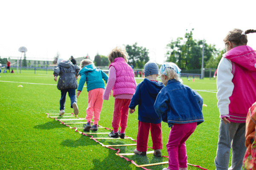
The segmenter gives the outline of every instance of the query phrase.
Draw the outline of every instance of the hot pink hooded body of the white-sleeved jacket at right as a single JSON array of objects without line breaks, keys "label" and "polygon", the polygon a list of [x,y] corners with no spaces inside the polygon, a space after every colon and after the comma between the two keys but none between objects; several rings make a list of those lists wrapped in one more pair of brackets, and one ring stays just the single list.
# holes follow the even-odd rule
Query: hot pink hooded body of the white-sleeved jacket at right
[{"label": "hot pink hooded body of the white-sleeved jacket at right", "polygon": [[238,46],[223,57],[232,62],[234,90],[230,96],[230,122],[245,123],[251,105],[256,102],[256,52],[249,46]]}]

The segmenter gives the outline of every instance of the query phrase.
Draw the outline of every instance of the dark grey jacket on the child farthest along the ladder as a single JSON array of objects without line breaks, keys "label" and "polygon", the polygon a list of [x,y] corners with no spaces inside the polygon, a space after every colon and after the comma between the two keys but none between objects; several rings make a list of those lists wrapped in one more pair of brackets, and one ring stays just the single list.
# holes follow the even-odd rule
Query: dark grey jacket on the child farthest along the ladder
[{"label": "dark grey jacket on the child farthest along the ladder", "polygon": [[60,76],[58,79],[57,88],[59,90],[74,88],[77,89],[76,77],[80,71],[79,66],[73,65],[70,60],[61,61],[54,68],[54,76]]}]

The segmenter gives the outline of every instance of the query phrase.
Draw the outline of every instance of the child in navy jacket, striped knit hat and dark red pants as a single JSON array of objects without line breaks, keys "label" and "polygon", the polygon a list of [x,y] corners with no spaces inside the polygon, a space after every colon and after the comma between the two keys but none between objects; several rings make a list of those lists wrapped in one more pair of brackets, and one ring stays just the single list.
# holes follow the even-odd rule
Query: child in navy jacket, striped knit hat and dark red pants
[{"label": "child in navy jacket, striped knit hat and dark red pants", "polygon": [[139,105],[137,149],[134,150],[134,153],[141,156],[146,155],[148,149],[148,133],[150,129],[154,156],[162,156],[162,119],[157,116],[157,113],[154,110],[154,102],[157,98],[157,94],[164,85],[162,82],[157,81],[159,69],[156,63],[147,62],[144,66],[144,74],[145,79],[137,85],[135,94],[132,96],[129,105],[130,113],[134,113],[135,107]]}]

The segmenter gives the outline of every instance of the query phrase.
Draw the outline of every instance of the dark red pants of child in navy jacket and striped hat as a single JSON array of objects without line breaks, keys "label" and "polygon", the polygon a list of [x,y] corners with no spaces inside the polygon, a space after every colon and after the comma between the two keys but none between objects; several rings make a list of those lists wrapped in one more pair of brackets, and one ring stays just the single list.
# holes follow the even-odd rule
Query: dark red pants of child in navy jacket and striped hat
[{"label": "dark red pants of child in navy jacket and striped hat", "polygon": [[151,139],[153,142],[152,149],[163,149],[162,129],[161,123],[145,123],[139,121],[137,134],[137,150],[146,152],[148,150],[148,133],[151,132]]}]

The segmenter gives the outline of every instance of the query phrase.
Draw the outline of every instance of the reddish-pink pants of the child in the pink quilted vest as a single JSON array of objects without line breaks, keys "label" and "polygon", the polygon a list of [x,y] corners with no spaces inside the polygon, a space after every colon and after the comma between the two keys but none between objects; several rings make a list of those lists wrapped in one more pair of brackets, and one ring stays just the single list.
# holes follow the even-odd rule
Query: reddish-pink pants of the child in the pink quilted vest
[{"label": "reddish-pink pants of the child in the pink quilted vest", "polygon": [[113,131],[117,132],[120,124],[120,132],[125,133],[128,120],[128,106],[130,105],[131,99],[115,99],[114,111],[112,118]]}]

